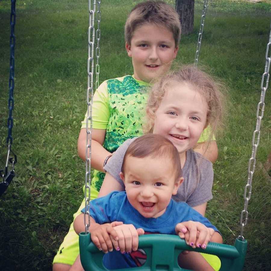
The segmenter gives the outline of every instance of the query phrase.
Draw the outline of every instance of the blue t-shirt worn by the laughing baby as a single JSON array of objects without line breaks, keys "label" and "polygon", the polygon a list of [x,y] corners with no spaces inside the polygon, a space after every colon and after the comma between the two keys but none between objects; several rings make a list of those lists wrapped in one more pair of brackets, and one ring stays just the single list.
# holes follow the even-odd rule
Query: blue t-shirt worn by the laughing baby
[{"label": "blue t-shirt worn by the laughing baby", "polygon": [[[85,208],[82,212],[84,211]],[[201,222],[206,227],[218,232],[207,218],[188,206],[188,204],[176,202],[173,199],[171,199],[166,211],[161,216],[146,218],[132,207],[125,191],[114,191],[105,197],[92,200],[89,213],[96,223],[104,224],[122,221],[124,224],[133,224],[136,229],[142,228],[149,233],[176,234],[175,226],[188,220]],[[120,251],[115,250],[104,255],[103,263],[107,269],[137,266],[129,254],[121,254]]]}]

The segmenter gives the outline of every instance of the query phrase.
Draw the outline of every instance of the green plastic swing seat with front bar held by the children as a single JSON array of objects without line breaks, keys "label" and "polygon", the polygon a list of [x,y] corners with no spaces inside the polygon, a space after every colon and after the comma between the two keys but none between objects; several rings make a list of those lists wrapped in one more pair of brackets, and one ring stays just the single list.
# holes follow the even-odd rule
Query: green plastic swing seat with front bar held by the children
[{"label": "green plastic swing seat with front bar held by the children", "polygon": [[[81,232],[79,234],[79,247],[81,263],[86,271],[108,270],[102,263],[103,252],[99,251],[91,242],[89,233]],[[234,246],[210,242],[207,248],[203,250],[191,248],[177,235],[148,234],[139,236],[139,248],[144,249],[147,254],[147,260],[143,266],[114,270],[188,270],[179,267],[177,258],[182,251],[189,250],[216,255],[221,260],[221,271],[238,271],[242,270],[244,265],[247,241],[236,239]]]}]

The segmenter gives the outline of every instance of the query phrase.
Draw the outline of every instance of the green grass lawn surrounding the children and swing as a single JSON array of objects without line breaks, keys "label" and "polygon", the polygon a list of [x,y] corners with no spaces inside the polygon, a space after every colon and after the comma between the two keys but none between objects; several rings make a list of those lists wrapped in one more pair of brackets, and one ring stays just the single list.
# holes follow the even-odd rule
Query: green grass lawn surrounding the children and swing
[{"label": "green grass lawn surrounding the children and swing", "polygon": [[[102,1],[100,82],[132,73],[123,25],[138,2]],[[18,163],[17,177],[0,198],[0,269],[50,270],[83,199],[85,169],[76,143],[86,111],[87,1],[25,0],[16,7],[13,149]],[[182,37],[176,63],[194,60],[201,9],[196,1],[194,31]],[[1,169],[7,154],[9,12],[10,1],[1,1]],[[200,63],[229,86],[227,122],[217,137],[214,199],[207,206],[207,217],[228,244],[240,232],[270,14],[271,1],[213,1],[204,25]],[[271,188],[260,168],[271,151],[270,93],[269,86],[244,232],[245,270],[251,271],[271,269]]]}]

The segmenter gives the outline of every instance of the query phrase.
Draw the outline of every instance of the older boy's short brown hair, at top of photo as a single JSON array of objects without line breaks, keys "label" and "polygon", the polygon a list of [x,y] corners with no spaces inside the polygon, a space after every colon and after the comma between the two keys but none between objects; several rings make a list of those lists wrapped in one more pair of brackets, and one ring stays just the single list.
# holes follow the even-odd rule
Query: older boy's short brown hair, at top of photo
[{"label": "older boy's short brown hair, at top of photo", "polygon": [[131,45],[134,31],[146,23],[155,23],[169,29],[173,34],[175,47],[178,47],[181,23],[174,8],[164,1],[146,1],[137,4],[128,15],[125,23],[125,41],[129,45]]}]

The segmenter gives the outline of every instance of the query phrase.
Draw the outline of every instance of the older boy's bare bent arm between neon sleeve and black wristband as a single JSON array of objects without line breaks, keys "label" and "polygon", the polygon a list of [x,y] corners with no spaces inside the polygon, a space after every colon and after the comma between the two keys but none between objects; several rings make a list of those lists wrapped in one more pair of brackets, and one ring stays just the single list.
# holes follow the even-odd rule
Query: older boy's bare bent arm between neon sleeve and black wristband
[{"label": "older boy's bare bent arm between neon sleeve and black wristband", "polygon": [[[102,145],[106,129],[92,129],[92,143],[91,143],[91,167],[93,169],[105,172],[104,160],[111,153],[107,151]],[[81,129],[77,141],[77,151],[81,159],[86,160],[86,129]],[[88,154],[89,157],[89,154]],[[110,159],[110,158],[109,158]]]}]

